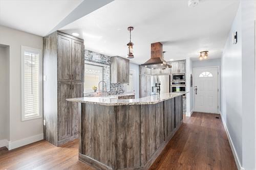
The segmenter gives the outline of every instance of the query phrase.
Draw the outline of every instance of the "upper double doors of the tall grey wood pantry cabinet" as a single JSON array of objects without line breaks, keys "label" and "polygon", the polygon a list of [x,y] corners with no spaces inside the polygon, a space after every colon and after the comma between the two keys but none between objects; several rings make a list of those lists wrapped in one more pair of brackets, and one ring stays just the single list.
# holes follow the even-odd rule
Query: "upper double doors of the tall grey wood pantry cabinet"
[{"label": "upper double doors of the tall grey wood pantry cabinet", "polygon": [[83,42],[58,34],[58,81],[83,82]]}]

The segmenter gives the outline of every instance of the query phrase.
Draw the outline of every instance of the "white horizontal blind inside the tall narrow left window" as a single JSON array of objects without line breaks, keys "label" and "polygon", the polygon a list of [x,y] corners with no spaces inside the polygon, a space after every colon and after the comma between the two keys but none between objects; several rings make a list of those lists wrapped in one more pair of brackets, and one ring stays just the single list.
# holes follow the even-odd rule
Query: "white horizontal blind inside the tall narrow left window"
[{"label": "white horizontal blind inside the tall narrow left window", "polygon": [[24,52],[24,117],[39,115],[39,54]]}]

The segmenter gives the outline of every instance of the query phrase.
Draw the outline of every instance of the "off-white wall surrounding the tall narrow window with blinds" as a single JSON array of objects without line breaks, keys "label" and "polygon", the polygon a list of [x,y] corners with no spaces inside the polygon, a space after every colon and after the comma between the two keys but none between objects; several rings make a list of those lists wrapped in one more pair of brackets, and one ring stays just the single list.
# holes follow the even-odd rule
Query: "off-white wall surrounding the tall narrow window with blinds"
[{"label": "off-white wall surrounding the tall narrow window with blinds", "polygon": [[[40,139],[43,136],[42,118],[21,121],[20,46],[25,45],[42,50],[42,37],[3,26],[0,26],[0,34],[0,44],[10,46],[10,141],[29,137],[26,141],[32,141],[33,136]],[[17,142],[16,145],[18,145]]]}]

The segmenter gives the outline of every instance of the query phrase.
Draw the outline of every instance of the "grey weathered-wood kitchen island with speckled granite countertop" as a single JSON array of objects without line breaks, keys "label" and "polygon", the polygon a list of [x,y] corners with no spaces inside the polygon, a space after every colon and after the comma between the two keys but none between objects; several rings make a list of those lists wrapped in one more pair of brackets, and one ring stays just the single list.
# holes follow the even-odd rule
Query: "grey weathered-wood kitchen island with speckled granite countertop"
[{"label": "grey weathered-wood kitchen island with speckled granite countertop", "polygon": [[79,103],[79,160],[99,169],[148,169],[182,124],[183,93]]}]

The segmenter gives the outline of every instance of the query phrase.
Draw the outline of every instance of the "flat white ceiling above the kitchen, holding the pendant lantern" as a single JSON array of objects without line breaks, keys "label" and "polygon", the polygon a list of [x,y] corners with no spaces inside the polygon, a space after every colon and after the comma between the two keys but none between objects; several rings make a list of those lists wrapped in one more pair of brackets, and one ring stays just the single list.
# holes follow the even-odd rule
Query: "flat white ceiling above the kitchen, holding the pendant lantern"
[{"label": "flat white ceiling above the kitchen, holding the pendant lantern", "polygon": [[236,0],[201,0],[189,8],[187,0],[116,0],[61,30],[79,33],[88,50],[126,57],[127,27],[133,26],[132,62],[138,64],[150,58],[150,44],[158,41],[166,61],[197,60],[205,50],[214,59],[221,57],[238,5]]}]

